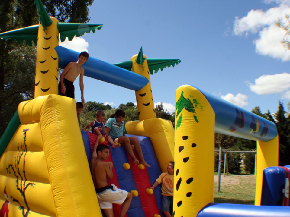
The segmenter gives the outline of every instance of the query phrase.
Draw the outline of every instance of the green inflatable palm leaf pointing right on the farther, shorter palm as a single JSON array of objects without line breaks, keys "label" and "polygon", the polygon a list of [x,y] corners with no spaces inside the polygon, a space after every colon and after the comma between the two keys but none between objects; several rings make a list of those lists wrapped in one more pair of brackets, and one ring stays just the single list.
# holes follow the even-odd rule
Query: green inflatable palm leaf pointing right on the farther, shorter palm
[{"label": "green inflatable palm leaf pointing right on the farther, shorter palm", "polygon": [[181,62],[181,59],[147,59],[150,74],[157,73],[159,69],[163,71],[166,67],[174,67]]}]

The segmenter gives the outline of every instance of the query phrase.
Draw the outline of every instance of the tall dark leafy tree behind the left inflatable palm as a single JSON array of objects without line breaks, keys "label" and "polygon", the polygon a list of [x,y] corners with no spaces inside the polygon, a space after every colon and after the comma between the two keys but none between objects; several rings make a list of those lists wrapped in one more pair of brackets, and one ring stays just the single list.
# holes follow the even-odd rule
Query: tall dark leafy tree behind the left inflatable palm
[{"label": "tall dark leafy tree behind the left inflatable palm", "polygon": [[[93,0],[43,0],[60,22],[87,22]],[[0,1],[0,33],[37,24],[34,0]],[[0,40],[0,136],[21,101],[34,97],[36,47]]]}]

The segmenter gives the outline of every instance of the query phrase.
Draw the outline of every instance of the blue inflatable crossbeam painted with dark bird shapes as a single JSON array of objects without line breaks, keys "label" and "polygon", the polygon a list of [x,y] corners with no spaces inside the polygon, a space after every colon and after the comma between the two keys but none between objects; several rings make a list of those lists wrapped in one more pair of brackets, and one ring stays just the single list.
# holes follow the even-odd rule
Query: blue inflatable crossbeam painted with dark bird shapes
[{"label": "blue inflatable crossbeam painted with dark bird shapes", "polygon": [[216,133],[262,142],[277,136],[277,128],[272,121],[195,88],[205,96],[214,110]]}]

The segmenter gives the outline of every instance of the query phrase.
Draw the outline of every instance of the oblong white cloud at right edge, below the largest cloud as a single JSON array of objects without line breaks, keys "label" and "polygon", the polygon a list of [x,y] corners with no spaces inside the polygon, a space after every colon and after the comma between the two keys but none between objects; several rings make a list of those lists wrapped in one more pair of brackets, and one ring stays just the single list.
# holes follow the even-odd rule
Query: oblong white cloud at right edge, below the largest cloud
[{"label": "oblong white cloud at right edge, below the largest cloud", "polygon": [[290,88],[290,74],[262,75],[255,79],[255,84],[248,83],[251,91],[256,94],[280,93]]}]

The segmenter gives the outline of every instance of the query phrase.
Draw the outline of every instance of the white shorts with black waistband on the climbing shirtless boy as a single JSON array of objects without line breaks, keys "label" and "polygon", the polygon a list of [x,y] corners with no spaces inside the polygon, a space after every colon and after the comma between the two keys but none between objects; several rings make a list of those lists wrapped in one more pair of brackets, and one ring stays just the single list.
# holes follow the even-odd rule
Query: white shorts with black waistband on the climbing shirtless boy
[{"label": "white shorts with black waistband on the climbing shirtless boy", "polygon": [[113,203],[122,204],[127,198],[127,191],[117,188],[114,184],[111,184],[111,186],[114,190],[109,188],[97,193],[101,209],[112,209]]}]

